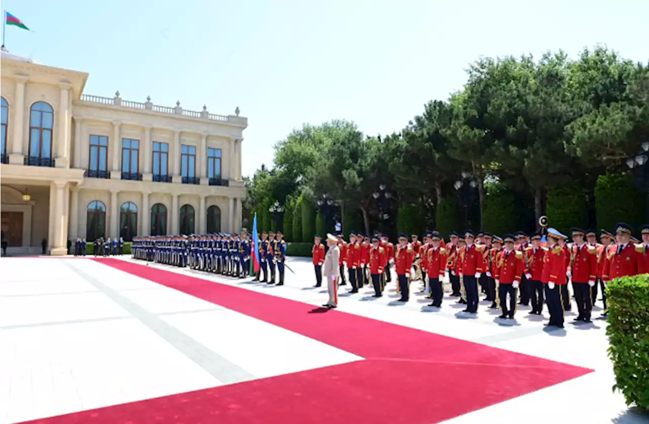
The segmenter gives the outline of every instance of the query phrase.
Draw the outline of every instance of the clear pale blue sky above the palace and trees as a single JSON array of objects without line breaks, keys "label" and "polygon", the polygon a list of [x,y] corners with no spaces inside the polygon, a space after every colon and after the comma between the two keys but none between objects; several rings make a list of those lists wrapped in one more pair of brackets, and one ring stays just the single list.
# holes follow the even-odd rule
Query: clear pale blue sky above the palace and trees
[{"label": "clear pale blue sky above the palace and trees", "polygon": [[9,0],[11,53],[90,73],[87,94],[249,118],[243,174],[302,123],[398,131],[478,56],[604,43],[646,62],[641,0]]}]

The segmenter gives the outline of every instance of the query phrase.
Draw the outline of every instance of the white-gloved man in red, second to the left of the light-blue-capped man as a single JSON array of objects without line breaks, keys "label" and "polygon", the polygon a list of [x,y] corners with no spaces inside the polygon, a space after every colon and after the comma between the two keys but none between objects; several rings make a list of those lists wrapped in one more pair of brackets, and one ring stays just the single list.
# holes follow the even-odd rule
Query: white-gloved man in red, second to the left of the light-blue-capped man
[{"label": "white-gloved man in red, second to the left of the light-blue-capped man", "polygon": [[[499,318],[514,318],[516,305],[518,301],[517,289],[520,285],[520,279],[525,270],[524,253],[520,250],[514,250],[514,236],[508,234],[502,238],[505,242],[505,248],[498,255],[496,263],[496,275],[494,279],[498,285],[498,300],[502,314]],[[507,307],[507,295],[509,294],[509,308]]]}]

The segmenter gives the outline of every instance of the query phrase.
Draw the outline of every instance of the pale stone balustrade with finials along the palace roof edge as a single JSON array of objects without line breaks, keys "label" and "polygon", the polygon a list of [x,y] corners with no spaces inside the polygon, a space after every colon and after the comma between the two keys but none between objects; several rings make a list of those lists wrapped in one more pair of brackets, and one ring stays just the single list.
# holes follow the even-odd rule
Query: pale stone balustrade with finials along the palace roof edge
[{"label": "pale stone balustrade with finials along the palace roof edge", "polygon": [[119,96],[119,91],[115,93],[115,97],[101,97],[82,94],[80,100],[82,102],[88,103],[106,104],[129,109],[151,110],[152,112],[167,113],[169,115],[181,115],[195,119],[206,119],[208,121],[217,121],[236,125],[248,124],[247,118],[239,117],[239,108],[236,108],[236,110],[234,110],[234,115],[216,115],[215,113],[208,112],[207,106],[203,106],[203,110],[201,112],[196,112],[194,110],[184,110],[180,107],[180,101],[176,102],[175,108],[170,108],[169,106],[158,106],[157,104],[151,103],[151,97],[147,97],[147,101],[145,103],[123,100]]}]

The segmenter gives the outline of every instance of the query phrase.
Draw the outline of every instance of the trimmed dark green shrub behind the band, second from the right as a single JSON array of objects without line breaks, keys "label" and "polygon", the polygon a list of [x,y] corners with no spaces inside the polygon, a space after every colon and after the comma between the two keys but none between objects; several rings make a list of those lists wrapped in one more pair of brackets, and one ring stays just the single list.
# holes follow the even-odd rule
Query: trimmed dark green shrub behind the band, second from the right
[{"label": "trimmed dark green shrub behind the band, second from the right", "polygon": [[564,234],[570,228],[588,228],[588,195],[583,185],[561,185],[548,191],[548,225]]}]

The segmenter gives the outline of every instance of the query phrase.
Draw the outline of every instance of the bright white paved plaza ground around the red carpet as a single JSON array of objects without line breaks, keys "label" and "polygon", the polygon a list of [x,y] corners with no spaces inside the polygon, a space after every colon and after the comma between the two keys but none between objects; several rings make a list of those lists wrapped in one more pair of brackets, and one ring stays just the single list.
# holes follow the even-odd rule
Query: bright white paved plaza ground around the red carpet
[{"label": "bright white paved plaza ground around the red carpet", "polygon": [[[314,305],[323,303],[326,293],[312,288],[309,261],[289,259],[288,264],[297,274],[288,272],[284,287],[161,267]],[[489,311],[486,303],[477,318],[467,318],[458,314],[461,308],[448,297],[439,312],[426,307],[428,301],[421,295],[398,305],[390,291],[393,284],[388,296],[379,300],[369,296],[369,289],[349,296],[341,287],[339,309],[596,370],[448,423],[649,423],[648,417],[628,410],[622,396],[611,391],[606,322],[567,324],[565,331],[546,332],[540,317],[528,316],[529,308],[520,309],[515,322],[498,322],[498,314]],[[413,283],[413,289],[417,285]],[[264,355],[269,346],[273,355]],[[90,260],[0,261],[3,424],[356,359]]]}]

